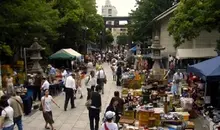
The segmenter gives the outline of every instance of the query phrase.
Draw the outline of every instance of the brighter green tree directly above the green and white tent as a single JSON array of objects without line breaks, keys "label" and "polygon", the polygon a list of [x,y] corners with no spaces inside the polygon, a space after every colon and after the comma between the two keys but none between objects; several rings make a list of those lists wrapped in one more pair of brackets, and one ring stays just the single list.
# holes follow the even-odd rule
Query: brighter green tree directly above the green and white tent
[{"label": "brighter green tree directly above the green and white tent", "polygon": [[[60,12],[60,34],[55,50],[72,47],[85,51],[84,38],[95,42],[103,28],[103,19],[97,14],[94,0],[56,0],[54,8]],[[84,27],[88,27],[85,30]],[[86,34],[86,35],[85,35]]]}]

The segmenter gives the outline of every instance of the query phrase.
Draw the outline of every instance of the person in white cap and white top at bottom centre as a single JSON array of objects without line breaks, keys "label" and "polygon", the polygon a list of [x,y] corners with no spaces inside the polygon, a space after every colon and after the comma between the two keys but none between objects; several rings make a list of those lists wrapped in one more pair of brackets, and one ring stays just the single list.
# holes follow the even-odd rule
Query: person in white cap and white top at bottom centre
[{"label": "person in white cap and white top at bottom centre", "polygon": [[106,122],[102,124],[101,130],[118,130],[117,124],[113,121],[114,117],[115,112],[107,111],[105,113]]}]

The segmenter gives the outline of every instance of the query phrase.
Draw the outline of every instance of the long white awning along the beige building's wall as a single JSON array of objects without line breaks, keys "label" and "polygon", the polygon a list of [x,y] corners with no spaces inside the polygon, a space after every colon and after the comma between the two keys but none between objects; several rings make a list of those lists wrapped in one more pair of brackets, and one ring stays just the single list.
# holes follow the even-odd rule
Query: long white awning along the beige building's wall
[{"label": "long white awning along the beige building's wall", "polygon": [[217,56],[215,48],[177,49],[178,59],[211,58]]}]

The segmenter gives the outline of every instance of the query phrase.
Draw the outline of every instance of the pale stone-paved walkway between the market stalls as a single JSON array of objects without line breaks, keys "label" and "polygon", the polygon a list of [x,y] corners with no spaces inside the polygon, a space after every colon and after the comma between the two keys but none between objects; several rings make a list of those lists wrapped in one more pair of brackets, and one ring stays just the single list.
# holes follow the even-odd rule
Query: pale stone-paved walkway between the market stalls
[{"label": "pale stone-paved walkway between the market stalls", "polygon": [[[114,91],[120,90],[116,87],[115,82],[112,80],[112,72],[110,66],[103,64],[107,76],[107,84],[105,85],[105,94],[102,95],[102,113],[100,114],[100,120],[103,117],[103,112],[105,111],[107,105],[109,104]],[[83,84],[84,85],[84,82]],[[56,107],[54,104],[52,106],[53,117],[54,117],[54,127],[56,130],[90,130],[89,128],[89,117],[88,110],[85,107],[87,90],[83,87],[84,98],[75,100],[76,108],[69,109],[67,111],[63,110],[64,106],[64,94],[61,93],[59,96],[55,97],[55,101],[61,108]],[[101,121],[100,121],[101,123]],[[41,111],[37,111],[30,116],[24,116],[23,118],[24,130],[44,130],[45,122]]]}]

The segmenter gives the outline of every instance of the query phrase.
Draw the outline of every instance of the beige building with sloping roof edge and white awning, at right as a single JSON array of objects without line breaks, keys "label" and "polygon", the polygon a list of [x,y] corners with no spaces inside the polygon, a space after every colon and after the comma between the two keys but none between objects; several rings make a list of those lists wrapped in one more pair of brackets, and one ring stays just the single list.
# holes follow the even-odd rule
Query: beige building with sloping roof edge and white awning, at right
[{"label": "beige building with sloping roof edge and white awning, at right", "polygon": [[173,47],[175,41],[169,35],[167,29],[169,20],[173,17],[173,12],[177,9],[177,6],[178,4],[175,4],[153,19],[154,28],[152,37],[156,35],[160,37],[160,44],[166,47],[162,53],[166,56],[168,54],[175,55],[179,59],[200,59],[217,56],[217,53],[214,51],[216,40],[219,38],[219,32],[217,30],[212,30],[210,33],[205,30],[201,31],[197,38],[191,41],[185,41],[176,49]]}]

